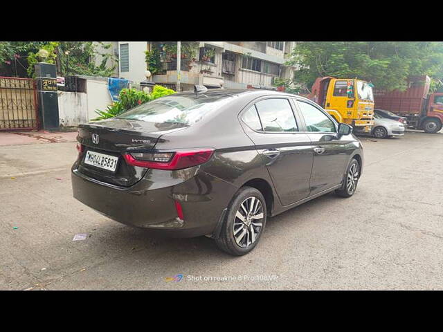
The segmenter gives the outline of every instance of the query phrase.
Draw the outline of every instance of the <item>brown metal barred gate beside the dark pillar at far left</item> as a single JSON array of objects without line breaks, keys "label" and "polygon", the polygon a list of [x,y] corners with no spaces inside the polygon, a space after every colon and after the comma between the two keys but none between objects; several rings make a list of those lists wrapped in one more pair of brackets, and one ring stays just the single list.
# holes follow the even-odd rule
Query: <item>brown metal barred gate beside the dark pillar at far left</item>
[{"label": "brown metal barred gate beside the dark pillar at far left", "polygon": [[0,76],[0,131],[37,129],[37,113],[34,80]]}]

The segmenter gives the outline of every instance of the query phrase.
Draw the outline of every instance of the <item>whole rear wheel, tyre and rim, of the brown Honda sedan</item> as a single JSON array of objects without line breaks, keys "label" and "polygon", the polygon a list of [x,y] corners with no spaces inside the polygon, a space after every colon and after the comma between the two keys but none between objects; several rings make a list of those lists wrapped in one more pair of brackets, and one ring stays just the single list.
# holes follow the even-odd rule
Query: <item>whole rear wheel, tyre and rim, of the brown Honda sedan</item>
[{"label": "whole rear wheel, tyre and rim, of the brown Honda sedan", "polygon": [[245,255],[257,246],[265,225],[266,201],[262,193],[253,187],[242,187],[228,205],[215,243],[230,255]]}]

